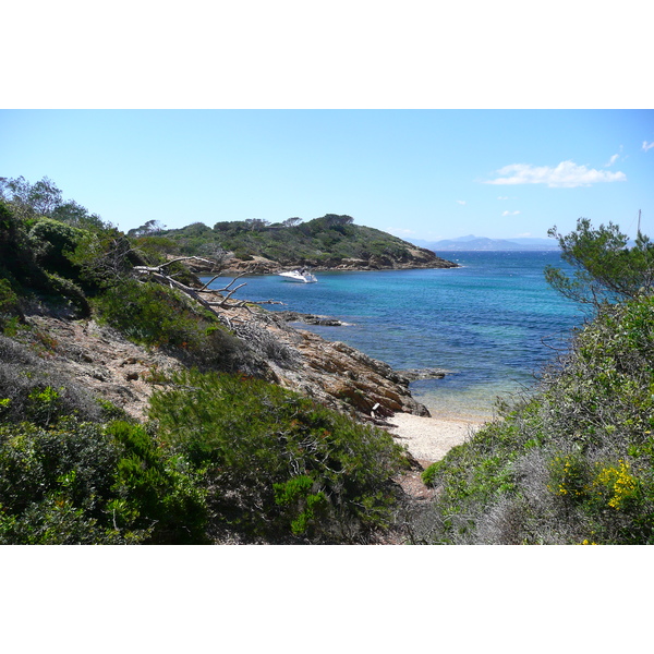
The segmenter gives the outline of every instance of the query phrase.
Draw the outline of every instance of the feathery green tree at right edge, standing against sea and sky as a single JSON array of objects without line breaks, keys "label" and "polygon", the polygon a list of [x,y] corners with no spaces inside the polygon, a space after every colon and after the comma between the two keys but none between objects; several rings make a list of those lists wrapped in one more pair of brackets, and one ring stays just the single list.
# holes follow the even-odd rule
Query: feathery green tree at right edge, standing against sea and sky
[{"label": "feathery green tree at right edge, standing against sea and sky", "polygon": [[561,258],[574,269],[569,277],[560,268],[545,268],[549,286],[566,298],[598,308],[652,292],[654,244],[640,230],[632,247],[617,225],[595,229],[588,218],[579,218],[577,229],[567,235],[556,226],[548,234],[558,240]]}]

